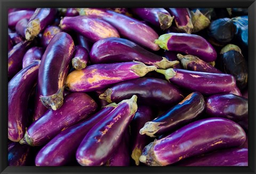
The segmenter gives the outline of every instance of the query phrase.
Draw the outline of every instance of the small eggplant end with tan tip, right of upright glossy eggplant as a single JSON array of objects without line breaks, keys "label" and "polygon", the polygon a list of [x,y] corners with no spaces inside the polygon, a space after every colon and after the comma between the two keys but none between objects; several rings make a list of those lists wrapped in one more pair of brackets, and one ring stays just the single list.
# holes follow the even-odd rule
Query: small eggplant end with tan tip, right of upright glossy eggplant
[{"label": "small eggplant end with tan tip, right of upright glossy eggplant", "polygon": [[75,69],[81,70],[81,69],[85,68],[89,61],[88,51],[82,46],[76,46],[74,57],[71,61],[72,61],[72,65]]}]

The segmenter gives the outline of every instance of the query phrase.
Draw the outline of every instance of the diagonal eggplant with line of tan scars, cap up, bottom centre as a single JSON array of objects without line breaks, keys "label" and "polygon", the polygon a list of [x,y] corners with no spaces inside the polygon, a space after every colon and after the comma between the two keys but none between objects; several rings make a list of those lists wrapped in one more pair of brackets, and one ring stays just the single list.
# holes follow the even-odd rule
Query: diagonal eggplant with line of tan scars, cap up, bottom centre
[{"label": "diagonal eggplant with line of tan scars, cap up, bottom centre", "polygon": [[136,101],[136,95],[121,101],[91,128],[76,151],[76,160],[81,166],[101,166],[111,158],[137,111]]}]

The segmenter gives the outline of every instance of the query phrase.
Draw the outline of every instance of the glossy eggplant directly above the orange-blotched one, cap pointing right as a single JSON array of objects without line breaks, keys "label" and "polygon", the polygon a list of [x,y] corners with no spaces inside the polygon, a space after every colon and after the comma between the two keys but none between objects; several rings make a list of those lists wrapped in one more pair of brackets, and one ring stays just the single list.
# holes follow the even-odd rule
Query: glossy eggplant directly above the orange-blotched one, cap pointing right
[{"label": "glossy eggplant directly above the orange-blotched one, cap pointing right", "polygon": [[177,60],[170,62],[165,57],[151,53],[134,42],[123,38],[107,38],[97,41],[92,46],[90,60],[94,64],[137,60],[146,65],[155,65],[163,69],[179,64]]}]

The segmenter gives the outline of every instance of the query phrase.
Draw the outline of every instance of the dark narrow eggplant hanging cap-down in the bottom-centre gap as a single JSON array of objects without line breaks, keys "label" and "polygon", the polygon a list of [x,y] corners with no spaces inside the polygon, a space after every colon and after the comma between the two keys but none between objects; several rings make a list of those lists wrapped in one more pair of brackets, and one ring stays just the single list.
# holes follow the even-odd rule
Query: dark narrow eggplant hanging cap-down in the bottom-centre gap
[{"label": "dark narrow eggplant hanging cap-down in the bottom-centre gap", "polygon": [[140,155],[143,148],[150,143],[151,138],[146,135],[140,135],[140,129],[147,121],[154,119],[154,113],[148,106],[139,106],[138,110],[131,123],[131,137],[132,137],[132,159],[138,166],[140,163]]}]

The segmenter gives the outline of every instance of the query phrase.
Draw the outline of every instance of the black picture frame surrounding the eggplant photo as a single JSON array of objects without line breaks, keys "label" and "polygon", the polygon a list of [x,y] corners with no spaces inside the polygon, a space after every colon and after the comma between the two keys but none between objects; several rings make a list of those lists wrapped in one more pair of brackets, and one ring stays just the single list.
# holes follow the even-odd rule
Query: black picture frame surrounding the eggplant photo
[{"label": "black picture frame surrounding the eggplant photo", "polygon": [[[0,172],[1,173],[255,173],[255,0],[1,0]],[[249,8],[249,166],[248,167],[8,167],[7,166],[7,8],[11,7],[248,7]]]}]

